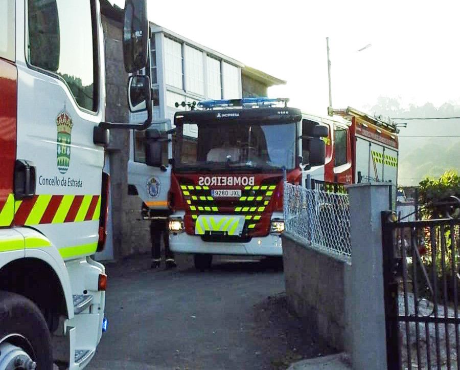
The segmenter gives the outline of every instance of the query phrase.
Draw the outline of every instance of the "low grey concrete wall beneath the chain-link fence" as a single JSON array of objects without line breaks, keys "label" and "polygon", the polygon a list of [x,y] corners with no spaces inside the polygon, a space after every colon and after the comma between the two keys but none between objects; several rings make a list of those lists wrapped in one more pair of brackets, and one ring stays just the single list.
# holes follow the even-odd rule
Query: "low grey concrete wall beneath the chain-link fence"
[{"label": "low grey concrete wall beneath the chain-link fence", "polygon": [[346,314],[351,265],[288,232],[282,239],[289,307],[329,345],[351,352]]}]

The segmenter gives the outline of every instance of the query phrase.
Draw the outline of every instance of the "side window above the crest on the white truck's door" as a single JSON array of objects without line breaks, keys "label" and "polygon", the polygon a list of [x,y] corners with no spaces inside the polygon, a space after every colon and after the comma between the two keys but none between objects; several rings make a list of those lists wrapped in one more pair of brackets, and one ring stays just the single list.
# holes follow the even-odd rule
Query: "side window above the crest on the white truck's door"
[{"label": "side window above the crest on the white truck's door", "polygon": [[[77,104],[98,110],[97,55],[88,0],[28,0],[28,62],[60,76]],[[65,11],[63,10],[65,9]]]}]

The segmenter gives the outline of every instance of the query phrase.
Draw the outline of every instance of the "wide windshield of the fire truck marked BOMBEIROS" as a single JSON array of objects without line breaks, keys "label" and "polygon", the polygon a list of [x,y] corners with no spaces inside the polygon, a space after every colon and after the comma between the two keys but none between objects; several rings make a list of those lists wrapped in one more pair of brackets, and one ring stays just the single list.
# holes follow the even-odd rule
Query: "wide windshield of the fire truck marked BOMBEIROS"
[{"label": "wide windshield of the fire truck marked BOMBEIROS", "polygon": [[295,123],[177,127],[176,170],[280,171],[295,167]]}]

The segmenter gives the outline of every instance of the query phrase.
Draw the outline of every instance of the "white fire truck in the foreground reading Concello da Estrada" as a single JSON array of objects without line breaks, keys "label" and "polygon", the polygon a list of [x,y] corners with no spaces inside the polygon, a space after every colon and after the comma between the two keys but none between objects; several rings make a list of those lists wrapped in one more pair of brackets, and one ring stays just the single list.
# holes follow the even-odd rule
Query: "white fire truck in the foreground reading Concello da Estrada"
[{"label": "white fire truck in the foreground reading Concello da Estrada", "polygon": [[[147,31],[145,0],[127,0],[129,73]],[[109,128],[135,125],[104,122],[104,65],[99,1],[0,2],[0,370],[83,368],[106,328],[90,257],[105,241],[104,147]],[[128,96],[148,109],[148,78]]]}]

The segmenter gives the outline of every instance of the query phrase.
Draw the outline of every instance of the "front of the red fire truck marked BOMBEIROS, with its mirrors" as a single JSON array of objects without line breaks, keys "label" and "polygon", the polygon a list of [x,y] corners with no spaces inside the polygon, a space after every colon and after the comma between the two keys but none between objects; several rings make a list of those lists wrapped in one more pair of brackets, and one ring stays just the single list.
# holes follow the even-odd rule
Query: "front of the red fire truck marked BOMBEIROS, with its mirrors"
[{"label": "front of the red fire truck marked BOMBEIROS, with its mirrors", "polygon": [[[299,184],[301,166],[324,164],[328,128],[303,127],[301,111],[287,99],[198,106],[174,118],[171,250],[193,253],[199,269],[213,254],[282,255],[284,178]],[[150,141],[147,163],[162,163],[160,146]]]}]

